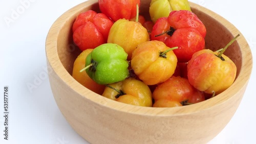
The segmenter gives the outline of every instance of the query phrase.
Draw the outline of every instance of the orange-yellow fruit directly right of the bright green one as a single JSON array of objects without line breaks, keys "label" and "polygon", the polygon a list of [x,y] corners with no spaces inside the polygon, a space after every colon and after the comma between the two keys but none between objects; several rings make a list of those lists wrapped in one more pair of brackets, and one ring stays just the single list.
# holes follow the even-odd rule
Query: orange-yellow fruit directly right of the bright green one
[{"label": "orange-yellow fruit directly right of the bright green one", "polygon": [[162,83],[172,77],[177,66],[177,57],[170,47],[161,41],[146,41],[134,50],[131,67],[147,85]]}]

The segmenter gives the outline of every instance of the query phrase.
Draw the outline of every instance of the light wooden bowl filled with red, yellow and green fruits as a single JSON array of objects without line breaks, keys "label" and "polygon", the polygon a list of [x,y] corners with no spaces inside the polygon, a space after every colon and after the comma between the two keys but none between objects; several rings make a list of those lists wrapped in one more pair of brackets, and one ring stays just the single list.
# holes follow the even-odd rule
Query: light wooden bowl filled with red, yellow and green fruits
[{"label": "light wooden bowl filled with red, yellow and green fruits", "polygon": [[[150,0],[141,1],[148,17]],[[216,13],[194,3],[192,11],[207,29],[206,48],[219,50],[241,34]],[[72,41],[72,23],[84,11],[99,12],[98,1],[87,1],[62,14],[46,39],[49,80],[55,101],[73,129],[90,143],[206,143],[236,112],[246,89],[252,55],[241,36],[225,52],[237,65],[236,81],[214,98],[175,108],[139,107],[119,103],[83,87],[72,77],[73,63],[81,53]]]}]

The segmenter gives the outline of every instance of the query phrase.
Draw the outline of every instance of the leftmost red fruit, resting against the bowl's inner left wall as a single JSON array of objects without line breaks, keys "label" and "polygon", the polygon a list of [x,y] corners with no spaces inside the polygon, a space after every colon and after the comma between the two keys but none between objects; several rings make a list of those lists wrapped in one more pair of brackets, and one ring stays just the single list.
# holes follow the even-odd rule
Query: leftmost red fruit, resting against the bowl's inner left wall
[{"label": "leftmost red fruit, resting against the bowl's inner left wall", "polygon": [[113,21],[105,14],[89,10],[80,13],[72,27],[74,43],[81,51],[106,43]]}]

